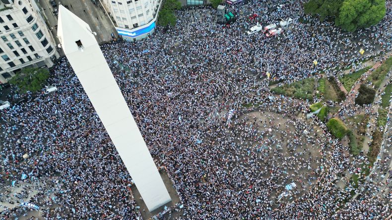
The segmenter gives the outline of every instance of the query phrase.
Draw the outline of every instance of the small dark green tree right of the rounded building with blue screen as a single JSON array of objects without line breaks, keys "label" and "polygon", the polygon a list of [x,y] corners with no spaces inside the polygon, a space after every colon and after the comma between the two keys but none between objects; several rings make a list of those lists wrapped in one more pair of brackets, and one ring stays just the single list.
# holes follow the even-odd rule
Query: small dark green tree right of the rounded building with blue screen
[{"label": "small dark green tree right of the rounded building with blue screen", "polygon": [[159,11],[158,24],[161,26],[174,26],[176,25],[177,17],[174,10],[181,8],[181,2],[178,0],[166,0]]}]

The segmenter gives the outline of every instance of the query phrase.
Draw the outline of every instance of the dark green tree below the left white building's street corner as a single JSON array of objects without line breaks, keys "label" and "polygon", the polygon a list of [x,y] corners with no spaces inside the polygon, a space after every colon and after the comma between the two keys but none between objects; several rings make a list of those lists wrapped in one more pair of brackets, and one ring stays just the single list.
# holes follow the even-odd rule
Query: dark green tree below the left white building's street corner
[{"label": "dark green tree below the left white building's street corner", "polygon": [[44,68],[23,68],[8,82],[19,88],[22,93],[27,91],[37,92],[42,89],[42,84],[49,78],[49,71]]}]

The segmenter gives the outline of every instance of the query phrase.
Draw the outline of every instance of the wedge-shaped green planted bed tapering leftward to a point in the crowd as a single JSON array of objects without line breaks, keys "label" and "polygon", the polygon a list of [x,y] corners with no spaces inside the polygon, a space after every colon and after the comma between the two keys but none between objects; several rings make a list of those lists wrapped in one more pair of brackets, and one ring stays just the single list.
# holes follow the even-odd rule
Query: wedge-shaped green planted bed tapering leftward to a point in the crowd
[{"label": "wedge-shaped green planted bed tapering leftward to a point in the crowd", "polygon": [[307,78],[290,84],[284,84],[271,89],[272,92],[291,96],[297,99],[313,101],[313,91],[316,85],[314,78]]}]

